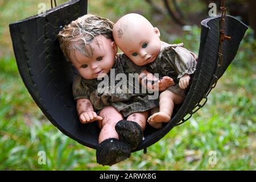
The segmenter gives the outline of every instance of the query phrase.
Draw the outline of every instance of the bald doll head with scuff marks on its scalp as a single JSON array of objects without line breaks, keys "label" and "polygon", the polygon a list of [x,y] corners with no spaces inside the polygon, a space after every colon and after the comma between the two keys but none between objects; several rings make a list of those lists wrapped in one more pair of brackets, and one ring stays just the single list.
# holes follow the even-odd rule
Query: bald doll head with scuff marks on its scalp
[{"label": "bald doll head with scuff marks on its scalp", "polygon": [[122,16],[114,25],[113,36],[117,46],[137,65],[153,62],[160,52],[160,32],[142,15]]}]

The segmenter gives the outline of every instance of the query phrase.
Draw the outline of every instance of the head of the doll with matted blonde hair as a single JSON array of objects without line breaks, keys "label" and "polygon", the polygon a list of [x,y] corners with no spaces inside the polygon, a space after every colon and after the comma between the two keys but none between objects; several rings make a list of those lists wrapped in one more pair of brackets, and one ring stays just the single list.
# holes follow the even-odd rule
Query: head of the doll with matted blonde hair
[{"label": "head of the doll with matted blonde hair", "polygon": [[96,15],[84,15],[65,26],[58,39],[64,56],[85,79],[103,77],[114,65],[117,47],[113,22]]}]

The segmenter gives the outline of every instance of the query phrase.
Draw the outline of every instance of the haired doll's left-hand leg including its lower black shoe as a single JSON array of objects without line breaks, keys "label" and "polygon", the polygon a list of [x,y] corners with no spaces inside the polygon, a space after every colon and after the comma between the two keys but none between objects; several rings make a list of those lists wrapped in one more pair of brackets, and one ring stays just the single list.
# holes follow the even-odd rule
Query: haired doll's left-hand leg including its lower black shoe
[{"label": "haired doll's left-hand leg including its lower black shoe", "polygon": [[129,144],[118,140],[118,134],[115,131],[115,124],[122,120],[123,116],[111,106],[102,109],[99,115],[103,119],[99,122],[102,129],[98,138],[100,144],[96,150],[97,163],[112,166],[131,155]]}]

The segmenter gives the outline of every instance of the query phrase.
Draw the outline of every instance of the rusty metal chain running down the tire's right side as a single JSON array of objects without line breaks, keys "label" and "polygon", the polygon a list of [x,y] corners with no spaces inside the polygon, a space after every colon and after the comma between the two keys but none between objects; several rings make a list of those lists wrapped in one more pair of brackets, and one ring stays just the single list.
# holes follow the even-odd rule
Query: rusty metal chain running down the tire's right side
[{"label": "rusty metal chain running down the tire's right side", "polygon": [[[217,61],[217,65],[216,65],[216,70],[213,74],[212,77],[212,82],[213,84],[210,86],[210,88],[208,89],[208,91],[204,94],[204,97],[202,98],[202,100],[197,103],[195,105],[195,107],[192,109],[192,111],[189,113],[188,117],[187,115],[185,115],[185,117],[183,119],[181,119],[181,122],[177,123],[177,125],[181,125],[182,123],[184,123],[185,121],[188,121],[189,118],[192,117],[193,114],[196,113],[196,111],[198,111],[199,109],[201,109],[201,107],[203,107],[205,105],[205,103],[207,102],[208,98],[207,96],[209,95],[210,91],[212,91],[212,89],[216,86],[217,81],[218,81],[218,77],[216,76],[216,73],[218,72],[218,68],[221,67],[222,63],[223,63],[223,54],[222,54],[222,46],[223,46],[223,42],[224,40],[229,40],[231,39],[230,36],[226,36],[225,35],[225,16],[226,16],[226,7],[225,7],[225,0],[221,0],[221,20],[220,20],[220,42],[219,42],[219,47],[218,47],[218,61]],[[202,104],[200,104],[203,101]],[[187,118],[186,118],[187,117]],[[177,126],[176,125],[176,126]]]}]

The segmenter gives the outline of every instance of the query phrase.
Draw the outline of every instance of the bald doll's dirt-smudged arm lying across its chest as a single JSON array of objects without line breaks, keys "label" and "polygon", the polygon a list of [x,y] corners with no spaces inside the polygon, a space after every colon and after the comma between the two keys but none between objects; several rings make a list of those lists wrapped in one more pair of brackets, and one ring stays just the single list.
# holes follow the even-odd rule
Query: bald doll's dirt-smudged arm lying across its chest
[{"label": "bald doll's dirt-smudged arm lying across its chest", "polygon": [[[152,84],[151,81],[154,81],[154,84]],[[139,75],[139,82],[144,88],[154,91],[163,91],[169,86],[174,85],[174,80],[172,80],[171,77],[164,76],[158,79],[154,74],[148,72],[146,69],[144,69]]]}]

